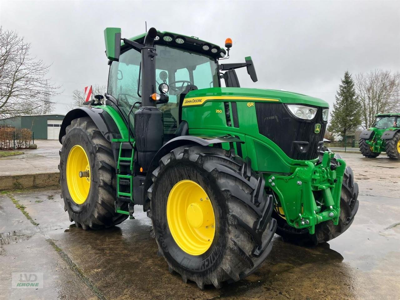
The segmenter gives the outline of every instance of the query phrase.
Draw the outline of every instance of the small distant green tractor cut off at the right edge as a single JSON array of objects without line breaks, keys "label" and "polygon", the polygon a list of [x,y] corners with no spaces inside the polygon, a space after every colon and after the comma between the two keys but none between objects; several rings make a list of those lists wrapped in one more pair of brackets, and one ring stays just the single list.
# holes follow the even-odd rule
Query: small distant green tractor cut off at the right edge
[{"label": "small distant green tractor cut off at the right edge", "polygon": [[386,152],[390,159],[400,160],[400,113],[376,114],[371,128],[361,132],[361,154],[368,158],[378,157]]}]

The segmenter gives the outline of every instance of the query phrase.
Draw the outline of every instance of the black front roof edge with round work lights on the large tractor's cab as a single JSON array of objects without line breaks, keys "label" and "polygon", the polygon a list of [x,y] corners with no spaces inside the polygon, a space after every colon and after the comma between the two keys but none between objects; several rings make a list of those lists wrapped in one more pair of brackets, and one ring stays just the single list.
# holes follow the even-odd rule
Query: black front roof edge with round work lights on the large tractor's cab
[{"label": "black front roof edge with round work lights on the large tractor's cab", "polygon": [[[138,36],[134,36],[133,38],[130,38],[129,40],[138,42],[140,44],[144,43],[144,37],[146,36],[146,33],[139,34]],[[176,40],[180,38],[184,42],[182,44],[178,44]],[[168,42],[168,40],[170,40]],[[186,36],[184,34],[178,34],[174,32],[169,32],[169,31],[158,31],[157,30],[157,37],[154,40],[154,45],[165,45],[165,46],[171,46],[175,48],[182,48],[186,49],[189,51],[197,52],[203,55],[210,56],[214,59],[222,58],[226,55],[226,51],[224,48],[221,48],[220,46],[216,44],[212,44],[210,42],[206,42],[203,40],[200,40],[196,36]],[[121,43],[121,47],[124,46],[124,43]],[[208,50],[204,50],[203,46],[208,46]],[[211,50],[216,49],[216,52],[213,53]],[[215,51],[215,50],[214,50]],[[224,55],[222,56],[221,53]]]}]

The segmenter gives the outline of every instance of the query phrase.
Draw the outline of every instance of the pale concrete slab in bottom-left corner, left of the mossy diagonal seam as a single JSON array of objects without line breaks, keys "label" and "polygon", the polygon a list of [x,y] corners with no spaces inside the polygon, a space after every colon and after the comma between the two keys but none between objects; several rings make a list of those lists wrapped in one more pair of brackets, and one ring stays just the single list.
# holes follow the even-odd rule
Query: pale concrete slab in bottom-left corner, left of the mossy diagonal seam
[{"label": "pale concrete slab in bottom-left corner, left of the mossy diagonal seam", "polygon": [[[10,198],[0,196],[0,299],[98,299]],[[41,272],[43,288],[11,288],[12,272]],[[73,292],[72,292],[73,291]]]}]

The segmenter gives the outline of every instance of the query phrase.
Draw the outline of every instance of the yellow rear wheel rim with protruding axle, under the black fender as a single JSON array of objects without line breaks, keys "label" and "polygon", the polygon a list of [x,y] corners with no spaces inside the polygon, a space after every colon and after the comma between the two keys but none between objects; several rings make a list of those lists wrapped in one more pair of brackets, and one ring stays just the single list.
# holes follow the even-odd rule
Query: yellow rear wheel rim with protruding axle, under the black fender
[{"label": "yellow rear wheel rim with protruding axle, under the black fender", "polygon": [[76,204],[82,204],[88,198],[90,190],[90,166],[85,150],[75,145],[67,159],[66,177],[68,191]]}]

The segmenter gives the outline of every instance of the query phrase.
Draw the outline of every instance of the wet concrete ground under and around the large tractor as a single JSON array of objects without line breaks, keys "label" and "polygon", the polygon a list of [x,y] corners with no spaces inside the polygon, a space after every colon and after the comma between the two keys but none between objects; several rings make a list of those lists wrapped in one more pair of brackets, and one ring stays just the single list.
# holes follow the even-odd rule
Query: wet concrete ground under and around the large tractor
[{"label": "wet concrete ground under and around the large tractor", "polygon": [[[0,299],[398,300],[400,162],[341,155],[360,186],[360,208],[350,229],[312,248],[275,236],[258,271],[219,290],[199,290],[168,272],[141,207],[135,220],[84,231],[68,221],[59,190],[2,195]],[[25,206],[26,216],[15,204]],[[12,272],[43,272],[44,288],[10,288]]]}]

